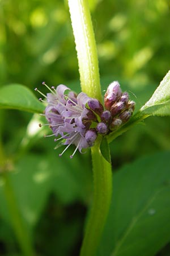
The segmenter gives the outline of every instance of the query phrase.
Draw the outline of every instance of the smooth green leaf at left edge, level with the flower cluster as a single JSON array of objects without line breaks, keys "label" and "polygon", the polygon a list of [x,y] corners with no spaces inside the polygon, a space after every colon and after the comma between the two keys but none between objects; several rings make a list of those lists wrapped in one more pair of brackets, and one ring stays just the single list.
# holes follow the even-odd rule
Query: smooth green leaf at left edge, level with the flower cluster
[{"label": "smooth green leaf at left edge, level with the flower cluster", "polygon": [[18,109],[33,113],[42,113],[44,105],[24,85],[11,84],[0,89],[0,108]]}]

